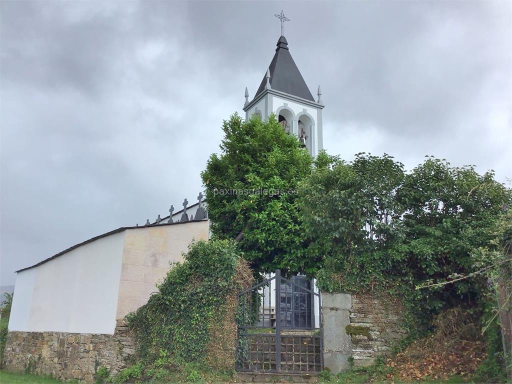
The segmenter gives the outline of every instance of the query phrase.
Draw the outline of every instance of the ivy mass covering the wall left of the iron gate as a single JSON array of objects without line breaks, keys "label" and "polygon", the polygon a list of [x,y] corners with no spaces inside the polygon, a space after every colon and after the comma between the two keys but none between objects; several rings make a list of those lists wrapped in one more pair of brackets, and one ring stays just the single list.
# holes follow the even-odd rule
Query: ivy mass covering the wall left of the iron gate
[{"label": "ivy mass covering the wall left of the iron gate", "polygon": [[137,357],[143,361],[155,361],[165,353],[176,364],[207,362],[215,345],[212,337],[222,334],[219,324],[234,324],[234,294],[252,283],[252,273],[233,241],[199,241],[184,257],[147,304],[127,316]]}]

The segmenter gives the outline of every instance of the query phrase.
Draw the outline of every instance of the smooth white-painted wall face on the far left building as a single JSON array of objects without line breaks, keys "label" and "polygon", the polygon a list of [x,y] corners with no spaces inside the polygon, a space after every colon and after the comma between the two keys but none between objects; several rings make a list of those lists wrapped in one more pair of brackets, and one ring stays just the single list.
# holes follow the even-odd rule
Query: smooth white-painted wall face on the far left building
[{"label": "smooth white-painted wall face on the far left building", "polygon": [[113,333],[124,236],[111,234],[18,272],[9,330]]}]

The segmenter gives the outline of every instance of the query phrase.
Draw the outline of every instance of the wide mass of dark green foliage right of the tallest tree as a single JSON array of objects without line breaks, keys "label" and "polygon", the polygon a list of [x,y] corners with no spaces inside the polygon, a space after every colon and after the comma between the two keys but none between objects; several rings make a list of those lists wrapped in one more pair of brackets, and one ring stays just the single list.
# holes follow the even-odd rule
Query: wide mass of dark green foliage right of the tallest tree
[{"label": "wide mass of dark green foliage right of the tallest tree", "polygon": [[324,255],[317,272],[322,290],[400,294],[424,313],[481,297],[486,280],[478,274],[415,288],[493,265],[476,250],[494,243],[493,228],[509,202],[510,190],[492,171],[479,175],[472,166],[428,158],[406,173],[388,155],[359,154],[347,163],[325,153],[298,198],[307,254]]}]

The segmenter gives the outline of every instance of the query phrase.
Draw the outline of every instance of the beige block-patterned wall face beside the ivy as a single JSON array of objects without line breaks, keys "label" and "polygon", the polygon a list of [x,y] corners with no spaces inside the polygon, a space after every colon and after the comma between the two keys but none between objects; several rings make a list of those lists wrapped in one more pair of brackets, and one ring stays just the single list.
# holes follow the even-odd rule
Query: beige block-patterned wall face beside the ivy
[{"label": "beige block-patterned wall face beside the ivy", "polygon": [[183,261],[182,253],[193,240],[208,240],[208,230],[208,220],[127,229],[116,318],[144,305],[169,264]]}]

